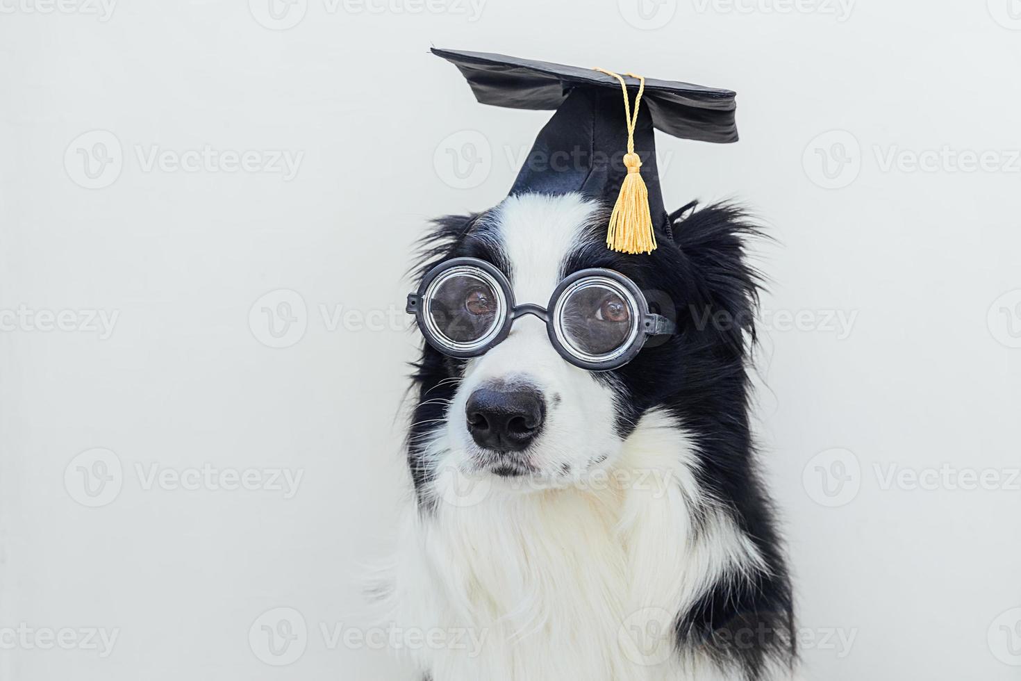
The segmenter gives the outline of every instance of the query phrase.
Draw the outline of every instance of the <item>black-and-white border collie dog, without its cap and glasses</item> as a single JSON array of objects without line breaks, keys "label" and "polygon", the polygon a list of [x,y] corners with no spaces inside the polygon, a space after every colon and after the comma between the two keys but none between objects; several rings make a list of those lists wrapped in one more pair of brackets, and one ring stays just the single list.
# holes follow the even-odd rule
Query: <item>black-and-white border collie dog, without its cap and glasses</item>
[{"label": "black-and-white border collie dog, without its cap and glasses", "polygon": [[[607,207],[514,195],[436,222],[422,273],[485,260],[544,305],[587,267],[625,275],[674,333],[629,362],[566,361],[535,317],[484,354],[425,344],[415,486],[379,597],[430,681],[789,679],[791,588],[748,426],[756,234],[729,205],[671,215],[651,254],[606,248]],[[527,394],[524,448],[480,437],[473,396]],[[411,649],[414,648],[414,649]]]}]

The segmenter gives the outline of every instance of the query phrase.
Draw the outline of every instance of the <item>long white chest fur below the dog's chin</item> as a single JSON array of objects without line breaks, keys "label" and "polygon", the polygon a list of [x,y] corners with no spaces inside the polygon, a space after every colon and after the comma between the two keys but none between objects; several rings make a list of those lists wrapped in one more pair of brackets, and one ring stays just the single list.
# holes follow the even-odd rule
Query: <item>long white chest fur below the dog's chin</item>
[{"label": "long white chest fur below the dog's chin", "polygon": [[[695,460],[684,431],[650,412],[617,460],[570,487],[483,481],[414,512],[387,588],[388,622],[418,641],[405,651],[434,681],[721,678],[682,664],[673,623],[760,558],[699,496]],[[695,505],[708,512],[698,533]]]}]

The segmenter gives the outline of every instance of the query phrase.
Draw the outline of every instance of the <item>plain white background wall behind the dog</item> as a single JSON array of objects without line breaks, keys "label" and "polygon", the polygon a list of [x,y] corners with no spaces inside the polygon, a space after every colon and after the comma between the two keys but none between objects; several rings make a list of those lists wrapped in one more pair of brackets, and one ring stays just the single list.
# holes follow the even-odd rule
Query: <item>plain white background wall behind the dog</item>
[{"label": "plain white background wall behind the dog", "polygon": [[[431,44],[738,92],[739,143],[658,143],[668,209],[736,197],[777,239],[757,431],[807,677],[1021,678],[1017,0],[48,1],[0,0],[0,628],[36,631],[0,678],[402,678],[321,630],[362,626],[407,499],[401,278],[548,116]],[[149,478],[206,465],[302,478]],[[117,638],[40,649],[61,628]]]}]

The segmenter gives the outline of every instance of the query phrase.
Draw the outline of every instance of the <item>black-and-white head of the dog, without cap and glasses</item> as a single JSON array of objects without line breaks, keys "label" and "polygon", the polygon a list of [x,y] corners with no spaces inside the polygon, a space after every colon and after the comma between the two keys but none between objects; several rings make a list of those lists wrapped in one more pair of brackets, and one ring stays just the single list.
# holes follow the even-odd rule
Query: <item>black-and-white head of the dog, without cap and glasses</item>
[{"label": "black-and-white head of the dog, without cap and glasses", "polygon": [[[479,258],[502,272],[518,304],[545,306],[566,277],[603,267],[630,278],[650,311],[677,326],[605,372],[568,362],[535,317],[516,320],[481,356],[457,359],[427,344],[409,446],[420,499],[449,468],[521,489],[563,485],[612,465],[651,407],[696,434],[714,409],[743,415],[756,277],[744,263],[750,228],[740,212],[714,206],[675,218],[673,234],[658,234],[659,248],[640,255],[605,247],[606,220],[604,206],[577,194],[526,194],[438,221],[423,273],[452,257]],[[605,304],[606,314],[620,314],[615,301]]]}]

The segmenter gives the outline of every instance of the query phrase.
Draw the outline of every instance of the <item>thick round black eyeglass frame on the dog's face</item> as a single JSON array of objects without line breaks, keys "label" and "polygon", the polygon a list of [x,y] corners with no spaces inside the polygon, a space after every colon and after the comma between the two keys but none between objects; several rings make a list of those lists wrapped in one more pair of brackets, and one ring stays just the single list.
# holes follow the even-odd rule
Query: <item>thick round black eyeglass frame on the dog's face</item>
[{"label": "thick round black eyeglass frame on the dog's face", "polygon": [[[433,281],[448,270],[458,266],[476,267],[492,277],[493,281],[495,281],[496,285],[500,288],[500,292],[503,295],[503,300],[506,305],[499,331],[493,335],[488,342],[467,350],[451,348],[441,339],[434,337],[434,334],[425,319],[426,305],[423,302]],[[625,289],[625,291],[630,294],[636,308],[635,312],[638,321],[638,327],[637,329],[632,328],[632,331],[629,333],[629,340],[627,341],[628,345],[625,347],[623,352],[620,354],[614,354],[606,359],[590,360],[578,356],[579,351],[572,349],[562,342],[556,332],[556,320],[554,319],[555,315],[553,310],[556,309],[561,296],[574,283],[579,280],[592,277],[609,279],[621,288]],[[526,314],[533,314],[546,324],[546,334],[549,336],[549,342],[552,343],[553,348],[562,357],[575,367],[580,367],[581,369],[586,369],[591,372],[605,372],[623,367],[634,359],[635,355],[638,354],[642,347],[644,347],[649,337],[673,335],[676,329],[673,322],[661,314],[657,314],[648,310],[648,300],[646,300],[645,295],[641,292],[641,289],[638,288],[637,284],[614,270],[605,270],[602,267],[581,270],[569,275],[556,286],[552,295],[549,296],[549,302],[545,307],[535,303],[522,303],[519,305],[515,301],[514,291],[510,289],[510,282],[508,282],[506,277],[503,276],[503,273],[491,263],[474,257],[451,258],[440,262],[430,270],[422,279],[422,284],[419,286],[419,290],[415,293],[407,294],[407,306],[405,307],[405,311],[409,314],[415,314],[416,322],[419,325],[419,330],[422,332],[422,335],[425,336],[426,341],[428,341],[430,345],[443,354],[461,358],[477,357],[484,354],[490,348],[495,347],[507,337],[507,334],[510,333],[510,327],[514,326],[516,320],[525,317]]]}]

